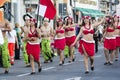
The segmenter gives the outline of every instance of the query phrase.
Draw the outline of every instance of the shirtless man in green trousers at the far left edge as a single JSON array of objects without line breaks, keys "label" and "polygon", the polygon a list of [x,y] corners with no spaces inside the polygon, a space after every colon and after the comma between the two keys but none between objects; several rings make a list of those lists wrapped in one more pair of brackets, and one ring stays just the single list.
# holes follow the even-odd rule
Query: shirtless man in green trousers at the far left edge
[{"label": "shirtless man in green trousers at the far left edge", "polygon": [[8,41],[7,41],[7,36],[6,32],[11,31],[10,24],[7,20],[4,22],[0,22],[0,28],[2,30],[2,35],[4,38],[4,43],[0,45],[0,55],[2,56],[2,64],[3,67],[5,68],[5,74],[9,72],[9,68],[11,66],[10,64],[10,58],[9,58],[9,52],[8,52]]}]

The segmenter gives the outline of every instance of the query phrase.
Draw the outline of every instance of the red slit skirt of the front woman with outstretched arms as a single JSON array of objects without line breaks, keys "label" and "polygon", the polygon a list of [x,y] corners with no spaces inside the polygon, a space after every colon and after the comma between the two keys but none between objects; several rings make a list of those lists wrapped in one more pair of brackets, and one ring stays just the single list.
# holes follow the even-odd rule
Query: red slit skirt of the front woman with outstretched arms
[{"label": "red slit skirt of the front woman with outstretched arms", "polygon": [[83,40],[80,40],[79,44],[80,44],[80,46],[79,46],[78,50],[81,54],[84,54],[83,48],[82,48],[82,45],[83,45],[83,47],[84,47],[85,51],[87,52],[88,56],[94,56],[94,53],[95,53],[94,43],[88,43],[88,42],[85,42]]}]

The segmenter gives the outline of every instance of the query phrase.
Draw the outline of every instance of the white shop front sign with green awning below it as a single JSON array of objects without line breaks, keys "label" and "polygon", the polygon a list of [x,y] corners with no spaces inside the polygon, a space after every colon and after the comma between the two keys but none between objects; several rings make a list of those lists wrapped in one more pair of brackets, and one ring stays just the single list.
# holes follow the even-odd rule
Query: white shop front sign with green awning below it
[{"label": "white shop front sign with green awning below it", "polygon": [[104,13],[99,10],[99,0],[76,0],[74,10],[80,11],[80,16],[104,16]]}]

